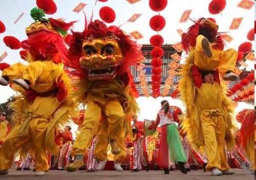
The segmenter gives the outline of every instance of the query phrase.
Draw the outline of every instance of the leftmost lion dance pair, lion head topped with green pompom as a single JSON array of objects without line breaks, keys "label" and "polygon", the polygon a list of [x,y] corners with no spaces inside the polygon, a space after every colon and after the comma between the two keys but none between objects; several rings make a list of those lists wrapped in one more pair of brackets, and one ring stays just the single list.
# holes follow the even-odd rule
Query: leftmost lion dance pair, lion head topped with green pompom
[{"label": "leftmost lion dance pair, lion head topped with green pompom", "polygon": [[1,77],[2,85],[14,82],[20,86],[14,89],[22,93],[12,105],[17,122],[0,149],[1,175],[8,173],[14,154],[21,148],[33,150],[36,175],[44,175],[49,169],[46,151],[56,152],[56,130],[69,121],[74,109],[69,97],[72,89],[62,64],[67,49],[57,31],[57,27],[67,31],[74,22],[42,18],[44,12],[36,8],[31,16],[36,21],[26,29],[28,40],[24,42],[29,64],[14,64],[3,70]]}]

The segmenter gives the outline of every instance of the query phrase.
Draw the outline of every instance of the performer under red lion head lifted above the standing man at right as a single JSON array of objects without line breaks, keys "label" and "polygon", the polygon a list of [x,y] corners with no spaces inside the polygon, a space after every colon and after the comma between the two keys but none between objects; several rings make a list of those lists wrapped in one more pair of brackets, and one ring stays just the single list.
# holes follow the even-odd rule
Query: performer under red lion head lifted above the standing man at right
[{"label": "performer under red lion head lifted above the standing man at right", "polygon": [[235,81],[234,74],[238,52],[236,49],[224,49],[224,41],[218,33],[218,24],[212,18],[200,18],[182,34],[182,45],[185,52],[193,54],[194,64],[201,70],[219,69],[223,80]]}]

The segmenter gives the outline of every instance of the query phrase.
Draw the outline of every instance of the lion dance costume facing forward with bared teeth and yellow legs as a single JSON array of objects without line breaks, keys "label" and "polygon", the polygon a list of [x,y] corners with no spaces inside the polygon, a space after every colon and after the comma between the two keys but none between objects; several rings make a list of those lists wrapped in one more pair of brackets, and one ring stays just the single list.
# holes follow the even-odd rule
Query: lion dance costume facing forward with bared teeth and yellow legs
[{"label": "lion dance costume facing forward with bared teeth and yellow legs", "polygon": [[127,132],[132,135],[131,122],[125,117],[138,113],[129,66],[139,62],[140,46],[118,27],[106,27],[99,20],[90,22],[86,30],[75,32],[73,37],[69,51],[77,58],[71,59],[70,67],[80,77],[75,96],[87,105],[87,110],[71,149],[76,160],[66,169],[76,171],[83,166],[82,157],[94,134],[98,136],[95,148],[98,162],[107,161],[110,143],[115,164],[119,165],[126,158],[125,135]]}]

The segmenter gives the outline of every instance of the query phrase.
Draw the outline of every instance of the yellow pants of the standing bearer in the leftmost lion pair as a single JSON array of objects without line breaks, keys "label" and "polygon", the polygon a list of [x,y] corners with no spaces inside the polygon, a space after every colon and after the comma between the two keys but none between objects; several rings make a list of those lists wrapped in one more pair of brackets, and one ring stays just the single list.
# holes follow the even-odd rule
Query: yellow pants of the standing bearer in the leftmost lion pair
[{"label": "yellow pants of the standing bearer in the leftmost lion pair", "polygon": [[33,118],[28,123],[28,134],[20,133],[22,124],[16,125],[7,135],[0,148],[0,170],[10,169],[15,153],[22,147],[35,151],[36,171],[49,169],[48,157],[45,149],[45,136],[48,120],[45,118]]}]

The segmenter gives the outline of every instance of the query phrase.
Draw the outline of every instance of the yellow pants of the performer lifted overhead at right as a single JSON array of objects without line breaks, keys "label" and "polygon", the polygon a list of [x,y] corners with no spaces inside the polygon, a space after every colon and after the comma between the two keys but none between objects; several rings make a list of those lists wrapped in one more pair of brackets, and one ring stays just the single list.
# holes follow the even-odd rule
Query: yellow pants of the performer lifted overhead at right
[{"label": "yellow pants of the performer lifted overhead at right", "polygon": [[[236,67],[238,53],[236,49],[218,50],[210,46],[212,57],[208,58],[202,48],[202,35],[197,37],[195,47],[194,63],[199,69],[209,71],[219,69],[220,74],[224,75],[227,71],[234,72]],[[212,44],[211,44],[212,45]]]}]

